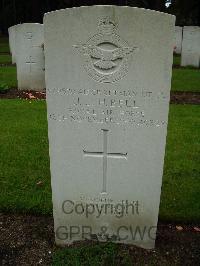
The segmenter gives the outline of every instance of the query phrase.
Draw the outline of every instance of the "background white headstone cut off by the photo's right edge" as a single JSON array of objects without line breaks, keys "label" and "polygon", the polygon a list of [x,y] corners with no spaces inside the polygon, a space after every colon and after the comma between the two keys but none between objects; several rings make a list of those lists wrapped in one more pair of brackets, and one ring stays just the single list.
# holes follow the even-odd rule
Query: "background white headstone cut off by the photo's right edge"
[{"label": "background white headstone cut off by the photo's right edge", "polygon": [[200,27],[198,26],[183,28],[181,66],[200,67]]}]

